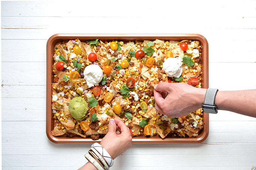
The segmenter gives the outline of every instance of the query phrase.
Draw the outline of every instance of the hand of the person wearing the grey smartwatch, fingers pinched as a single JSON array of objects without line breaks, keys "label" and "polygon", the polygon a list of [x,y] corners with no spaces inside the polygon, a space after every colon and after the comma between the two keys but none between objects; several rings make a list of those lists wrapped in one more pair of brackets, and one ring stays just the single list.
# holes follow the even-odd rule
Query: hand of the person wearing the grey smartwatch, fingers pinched
[{"label": "hand of the person wearing the grey smartwatch, fingers pinched", "polygon": [[202,107],[205,93],[186,83],[159,83],[154,86],[155,108],[169,117],[182,117]]}]

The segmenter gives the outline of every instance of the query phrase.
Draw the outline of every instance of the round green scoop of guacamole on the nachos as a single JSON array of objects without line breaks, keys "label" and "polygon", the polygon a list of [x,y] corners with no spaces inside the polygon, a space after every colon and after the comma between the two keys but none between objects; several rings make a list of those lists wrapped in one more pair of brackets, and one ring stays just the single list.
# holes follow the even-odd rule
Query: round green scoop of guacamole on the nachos
[{"label": "round green scoop of guacamole on the nachos", "polygon": [[74,97],[68,104],[68,109],[73,118],[76,120],[83,120],[86,118],[88,111],[88,104],[82,97]]}]

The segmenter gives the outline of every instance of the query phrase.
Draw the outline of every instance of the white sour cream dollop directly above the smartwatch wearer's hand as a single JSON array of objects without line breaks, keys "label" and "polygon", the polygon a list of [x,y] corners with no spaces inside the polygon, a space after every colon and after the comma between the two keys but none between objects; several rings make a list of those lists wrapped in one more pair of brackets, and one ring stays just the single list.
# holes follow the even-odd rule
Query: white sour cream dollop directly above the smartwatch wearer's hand
[{"label": "white sour cream dollop directly above the smartwatch wearer's hand", "polygon": [[168,77],[179,78],[182,74],[182,59],[180,57],[168,58],[163,63],[163,70]]}]

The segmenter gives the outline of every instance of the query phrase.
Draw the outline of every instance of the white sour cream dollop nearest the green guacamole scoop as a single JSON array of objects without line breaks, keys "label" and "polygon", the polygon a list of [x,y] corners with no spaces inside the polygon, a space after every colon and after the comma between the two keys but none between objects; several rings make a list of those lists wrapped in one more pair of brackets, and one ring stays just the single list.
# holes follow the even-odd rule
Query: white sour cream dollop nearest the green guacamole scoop
[{"label": "white sour cream dollop nearest the green guacamole scoop", "polygon": [[99,85],[99,82],[103,78],[103,72],[96,64],[91,64],[85,67],[83,75],[89,88],[93,85]]}]

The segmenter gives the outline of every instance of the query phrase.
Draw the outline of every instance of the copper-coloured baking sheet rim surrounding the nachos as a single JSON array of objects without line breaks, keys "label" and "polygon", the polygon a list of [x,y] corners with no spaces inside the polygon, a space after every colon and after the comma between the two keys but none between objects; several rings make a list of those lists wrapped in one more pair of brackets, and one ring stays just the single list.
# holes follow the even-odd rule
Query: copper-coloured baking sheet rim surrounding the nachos
[{"label": "copper-coloured baking sheet rim surrounding the nachos", "polygon": [[[208,88],[208,42],[205,37],[200,34],[55,34],[47,41],[47,91],[46,91],[46,134],[50,141],[54,143],[94,143],[100,142],[99,140],[93,141],[91,138],[73,137],[68,138],[65,136],[52,136],[51,131],[54,129],[54,121],[52,114],[52,85],[54,82],[54,75],[52,72],[52,65],[54,64],[53,54],[55,45],[60,41],[76,39],[81,41],[90,41],[99,38],[104,41],[111,40],[177,40],[184,39],[198,40],[202,46],[202,88]],[[203,142],[209,133],[209,115],[203,113],[203,129],[200,131],[196,138],[185,137],[166,137],[162,139],[159,136],[155,137],[133,137],[132,143],[200,143]]]}]

